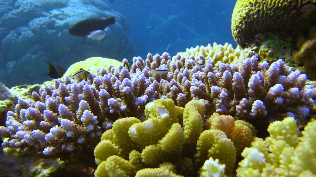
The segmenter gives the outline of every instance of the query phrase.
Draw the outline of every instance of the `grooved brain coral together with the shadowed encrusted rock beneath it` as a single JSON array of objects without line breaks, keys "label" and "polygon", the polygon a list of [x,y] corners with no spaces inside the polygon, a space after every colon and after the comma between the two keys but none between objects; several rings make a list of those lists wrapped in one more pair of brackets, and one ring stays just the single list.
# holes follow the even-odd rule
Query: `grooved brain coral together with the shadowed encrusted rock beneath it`
[{"label": "grooved brain coral together with the shadowed encrusted rock beneath it", "polygon": [[[315,80],[315,23],[315,0],[238,0],[232,15],[232,34],[238,44],[250,47],[260,60],[272,63],[283,59]],[[307,38],[304,44],[302,38]]]}]

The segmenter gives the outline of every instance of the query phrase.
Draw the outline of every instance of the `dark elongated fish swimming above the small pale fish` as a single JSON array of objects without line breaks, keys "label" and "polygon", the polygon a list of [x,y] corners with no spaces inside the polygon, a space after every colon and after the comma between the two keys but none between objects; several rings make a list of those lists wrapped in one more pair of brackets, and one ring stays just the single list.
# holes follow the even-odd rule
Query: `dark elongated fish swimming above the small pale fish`
[{"label": "dark elongated fish swimming above the small pale fish", "polygon": [[85,19],[82,21],[78,21],[74,25],[72,25],[68,33],[73,36],[81,36],[86,37],[90,35],[92,32],[97,30],[104,30],[109,25],[112,25],[115,23],[114,17],[109,17],[107,19]]}]

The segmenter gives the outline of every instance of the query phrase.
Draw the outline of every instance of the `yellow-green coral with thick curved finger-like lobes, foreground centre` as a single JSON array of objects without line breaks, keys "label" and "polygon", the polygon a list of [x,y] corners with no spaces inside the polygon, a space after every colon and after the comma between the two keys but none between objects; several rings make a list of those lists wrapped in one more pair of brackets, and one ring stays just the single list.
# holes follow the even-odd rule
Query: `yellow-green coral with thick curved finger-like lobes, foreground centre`
[{"label": "yellow-green coral with thick curved finger-like lobes, foreground centre", "polygon": [[[167,98],[148,103],[143,122],[135,117],[115,121],[113,128],[103,133],[95,147],[98,164],[95,176],[156,176],[160,173],[168,176],[217,173],[224,176],[224,169],[226,175],[232,175],[236,162],[235,143],[228,139],[228,133],[217,129],[219,126],[214,120],[209,123],[211,129],[203,131],[204,113],[203,100],[191,100],[183,109]],[[226,118],[220,122],[225,121],[229,122]],[[246,125],[241,122],[244,121],[240,121],[240,125]],[[252,141],[251,130],[247,129],[249,134],[234,131],[232,137]],[[247,146],[244,145],[240,151]]]}]

